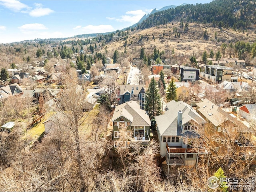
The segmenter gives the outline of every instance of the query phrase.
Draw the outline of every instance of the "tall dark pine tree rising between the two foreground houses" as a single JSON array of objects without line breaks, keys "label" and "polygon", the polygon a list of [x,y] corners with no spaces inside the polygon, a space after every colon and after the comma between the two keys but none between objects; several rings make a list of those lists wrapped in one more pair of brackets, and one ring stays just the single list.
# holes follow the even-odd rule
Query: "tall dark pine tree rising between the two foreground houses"
[{"label": "tall dark pine tree rising between the two foreground houses", "polygon": [[148,111],[150,119],[161,114],[160,94],[158,88],[156,87],[156,80],[154,77],[151,79],[148,90],[146,92],[145,109]]}]

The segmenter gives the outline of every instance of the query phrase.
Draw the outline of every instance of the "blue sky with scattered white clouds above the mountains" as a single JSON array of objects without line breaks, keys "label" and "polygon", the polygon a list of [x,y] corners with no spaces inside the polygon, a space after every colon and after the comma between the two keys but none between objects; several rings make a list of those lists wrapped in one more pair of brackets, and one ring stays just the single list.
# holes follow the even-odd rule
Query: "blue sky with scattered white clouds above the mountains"
[{"label": "blue sky with scattered white clouds above the mountains", "polygon": [[122,30],[154,8],[212,0],[0,0],[0,43]]}]

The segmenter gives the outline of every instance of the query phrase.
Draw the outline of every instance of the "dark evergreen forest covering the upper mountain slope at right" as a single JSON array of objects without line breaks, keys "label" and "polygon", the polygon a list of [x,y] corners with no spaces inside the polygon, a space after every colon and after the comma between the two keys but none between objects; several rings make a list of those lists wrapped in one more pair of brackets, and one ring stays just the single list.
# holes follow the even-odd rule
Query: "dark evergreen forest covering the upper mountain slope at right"
[{"label": "dark evergreen forest covering the upper mountain slope at right", "polygon": [[[255,5],[254,1],[212,1],[209,4],[186,4],[151,14],[137,25],[137,30],[168,24],[179,18],[186,18],[186,22],[212,23],[214,27],[243,30],[250,24],[256,24]],[[184,32],[188,30],[186,25]],[[183,20],[181,20],[180,27],[183,28],[183,26]]]}]

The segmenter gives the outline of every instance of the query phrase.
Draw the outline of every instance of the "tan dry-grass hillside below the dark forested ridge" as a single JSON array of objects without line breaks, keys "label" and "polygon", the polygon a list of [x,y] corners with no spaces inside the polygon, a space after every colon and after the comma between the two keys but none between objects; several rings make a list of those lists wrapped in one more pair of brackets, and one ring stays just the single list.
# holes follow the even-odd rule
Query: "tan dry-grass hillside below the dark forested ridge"
[{"label": "tan dry-grass hillside below the dark forested ridge", "polygon": [[[180,38],[175,38],[173,28],[176,27],[178,32],[180,32]],[[207,30],[209,34],[208,40],[204,40],[203,34]],[[214,38],[215,32],[217,33],[217,39]],[[165,35],[163,36],[163,33]],[[248,34],[248,35],[246,35]],[[143,40],[139,41],[140,36],[143,35]],[[232,29],[223,29],[211,27],[211,24],[194,24],[189,23],[189,30],[183,33],[183,28],[179,28],[179,22],[174,22],[174,24],[167,24],[163,26],[153,27],[150,29],[139,30],[128,35],[126,50],[128,52],[135,53],[134,57],[139,56],[140,49],[143,47],[146,54],[152,54],[154,48],[160,51],[164,50],[167,54],[168,50],[174,51],[178,56],[184,56],[189,58],[193,54],[202,54],[204,50],[208,53],[210,50],[215,52],[219,50],[223,42],[233,44],[238,40],[243,40],[245,42],[254,42],[256,34],[254,30],[248,30],[248,32],[238,32]],[[154,36],[154,39],[153,39]],[[211,41],[212,39],[212,41]],[[114,52],[124,52],[124,42],[125,40],[119,40],[115,42],[110,42],[106,44],[108,51]],[[102,48],[104,50],[104,48]]]}]

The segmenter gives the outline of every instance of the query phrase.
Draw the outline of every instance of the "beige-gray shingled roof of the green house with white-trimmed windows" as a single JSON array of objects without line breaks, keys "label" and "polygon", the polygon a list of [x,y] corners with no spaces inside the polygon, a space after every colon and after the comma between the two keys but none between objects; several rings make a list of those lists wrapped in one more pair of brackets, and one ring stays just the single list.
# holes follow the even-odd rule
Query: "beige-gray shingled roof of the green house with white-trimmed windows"
[{"label": "beige-gray shingled roof of the green house with white-trimmed windows", "polygon": [[131,120],[132,126],[151,126],[151,121],[145,110],[140,109],[140,105],[136,101],[129,101],[118,105],[115,108],[112,121],[120,116]]}]

